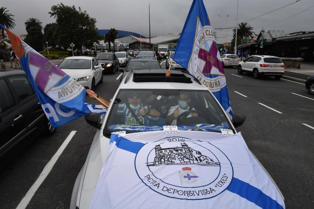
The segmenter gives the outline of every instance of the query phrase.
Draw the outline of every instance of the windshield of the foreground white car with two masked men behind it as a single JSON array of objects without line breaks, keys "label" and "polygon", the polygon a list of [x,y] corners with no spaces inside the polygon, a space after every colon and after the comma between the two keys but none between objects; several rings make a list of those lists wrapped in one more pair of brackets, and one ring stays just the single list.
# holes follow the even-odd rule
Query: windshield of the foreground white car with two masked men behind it
[{"label": "windshield of the foreground white car with two masked men behind it", "polygon": [[[222,128],[233,129],[213,95],[206,90],[120,89],[114,101],[107,112],[104,129],[107,136],[115,131],[158,131],[163,130],[164,125],[177,125],[179,130],[219,133]],[[181,109],[178,103],[187,105]],[[141,109],[146,114],[141,114]],[[176,119],[175,111],[179,114]]]}]

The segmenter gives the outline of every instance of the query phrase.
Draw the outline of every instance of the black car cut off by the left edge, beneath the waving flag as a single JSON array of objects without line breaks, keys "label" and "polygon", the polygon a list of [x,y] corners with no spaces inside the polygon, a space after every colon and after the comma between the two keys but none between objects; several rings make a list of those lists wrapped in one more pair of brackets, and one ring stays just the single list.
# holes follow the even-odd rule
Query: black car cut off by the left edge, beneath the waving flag
[{"label": "black car cut off by the left edge, beneath the waving flag", "polygon": [[56,132],[22,70],[0,71],[0,168],[32,139]]}]

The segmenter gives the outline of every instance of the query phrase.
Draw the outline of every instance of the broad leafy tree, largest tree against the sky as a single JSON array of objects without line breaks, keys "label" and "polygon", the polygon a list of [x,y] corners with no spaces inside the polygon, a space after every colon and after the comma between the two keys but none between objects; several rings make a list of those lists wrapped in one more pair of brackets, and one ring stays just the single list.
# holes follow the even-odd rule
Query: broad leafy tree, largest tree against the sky
[{"label": "broad leafy tree, largest tree against the sky", "polygon": [[89,17],[86,11],[63,3],[51,6],[50,17],[56,19],[55,41],[65,49],[73,43],[79,49],[82,46],[92,47],[94,42],[102,39],[97,34],[96,19]]}]

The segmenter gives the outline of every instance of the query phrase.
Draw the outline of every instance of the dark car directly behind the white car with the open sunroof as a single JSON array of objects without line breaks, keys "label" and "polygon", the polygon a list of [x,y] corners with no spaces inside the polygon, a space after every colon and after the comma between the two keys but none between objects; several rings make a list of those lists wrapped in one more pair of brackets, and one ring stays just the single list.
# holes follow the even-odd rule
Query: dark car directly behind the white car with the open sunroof
[{"label": "dark car directly behind the white car with the open sunroof", "polygon": [[124,69],[123,74],[120,78],[120,82],[122,81],[123,76],[126,75],[128,71],[135,69],[161,69],[161,66],[157,60],[135,57],[129,61],[127,67]]}]

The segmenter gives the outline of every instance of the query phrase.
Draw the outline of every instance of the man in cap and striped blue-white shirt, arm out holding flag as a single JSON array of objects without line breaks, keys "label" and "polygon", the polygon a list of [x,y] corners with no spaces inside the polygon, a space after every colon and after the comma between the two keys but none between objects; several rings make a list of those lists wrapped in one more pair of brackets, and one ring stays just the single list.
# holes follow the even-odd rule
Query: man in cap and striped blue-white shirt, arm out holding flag
[{"label": "man in cap and striped blue-white shirt, arm out holding flag", "polygon": [[[93,97],[95,92],[87,90],[87,94],[89,97]],[[96,97],[109,106],[110,102],[104,100],[98,95]],[[116,114],[124,116],[124,123],[126,125],[149,125],[150,122],[158,121],[160,117],[160,112],[152,109],[149,105],[143,105],[143,103],[141,103],[141,97],[137,93],[130,93],[128,97],[128,104],[119,104]],[[137,118],[134,117],[134,114]]]}]

